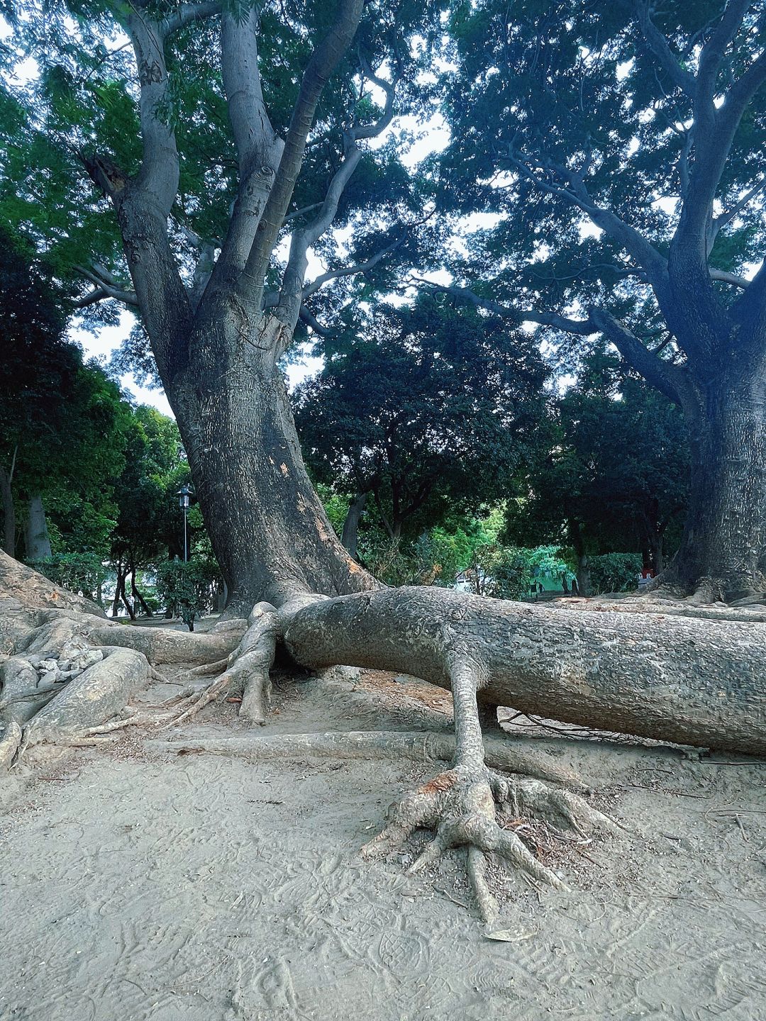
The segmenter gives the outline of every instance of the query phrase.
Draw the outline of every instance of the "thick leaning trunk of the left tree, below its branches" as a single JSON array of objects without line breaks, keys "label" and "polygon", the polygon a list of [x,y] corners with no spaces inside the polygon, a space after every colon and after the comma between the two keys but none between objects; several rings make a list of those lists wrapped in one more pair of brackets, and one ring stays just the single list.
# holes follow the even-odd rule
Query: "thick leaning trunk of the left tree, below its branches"
[{"label": "thick leaning trunk of the left tree, below its branches", "polygon": [[375,585],[308,481],[273,330],[268,318],[252,327],[223,306],[190,339],[184,369],[164,379],[229,603],[246,612],[260,599]]}]

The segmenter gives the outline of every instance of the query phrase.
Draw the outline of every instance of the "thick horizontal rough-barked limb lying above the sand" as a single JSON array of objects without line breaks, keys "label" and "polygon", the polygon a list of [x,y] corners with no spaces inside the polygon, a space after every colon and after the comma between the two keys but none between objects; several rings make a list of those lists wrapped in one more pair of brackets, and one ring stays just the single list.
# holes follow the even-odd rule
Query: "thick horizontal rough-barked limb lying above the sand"
[{"label": "thick horizontal rough-barked limb lying above the sand", "polygon": [[766,753],[761,624],[530,606],[402,588],[300,610],[291,655],[406,671],[450,688],[465,658],[478,698],[548,719],[682,744]]}]

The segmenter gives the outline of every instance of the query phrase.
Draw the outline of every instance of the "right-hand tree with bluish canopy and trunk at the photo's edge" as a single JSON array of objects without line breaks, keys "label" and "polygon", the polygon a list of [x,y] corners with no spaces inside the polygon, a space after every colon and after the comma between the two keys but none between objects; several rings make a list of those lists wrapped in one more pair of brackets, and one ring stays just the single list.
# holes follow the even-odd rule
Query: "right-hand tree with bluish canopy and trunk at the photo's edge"
[{"label": "right-hand tree with bluish canopy and trunk at the photo's edge", "polygon": [[763,3],[457,2],[450,33],[445,202],[498,217],[451,290],[564,347],[606,338],[679,404],[691,496],[665,578],[763,593]]}]

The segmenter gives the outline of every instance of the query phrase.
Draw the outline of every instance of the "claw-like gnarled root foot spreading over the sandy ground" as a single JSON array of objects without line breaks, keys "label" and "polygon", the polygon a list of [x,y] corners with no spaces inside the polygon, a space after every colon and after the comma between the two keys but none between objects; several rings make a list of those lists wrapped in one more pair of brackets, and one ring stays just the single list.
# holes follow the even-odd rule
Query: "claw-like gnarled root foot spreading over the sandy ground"
[{"label": "claw-like gnarled root foot spreading over the sandy ground", "polygon": [[592,829],[621,829],[578,794],[539,780],[504,776],[486,767],[458,766],[395,801],[388,812],[388,825],[365,844],[362,854],[368,859],[384,857],[415,830],[432,829],[433,840],[408,870],[415,873],[437,862],[449,847],[468,847],[468,876],[479,913],[487,923],[497,915],[497,903],[486,880],[487,855],[495,855],[532,880],[566,889],[562,879],[534,857],[513,829],[497,822],[495,803],[514,821],[541,819],[558,832],[583,836]]}]

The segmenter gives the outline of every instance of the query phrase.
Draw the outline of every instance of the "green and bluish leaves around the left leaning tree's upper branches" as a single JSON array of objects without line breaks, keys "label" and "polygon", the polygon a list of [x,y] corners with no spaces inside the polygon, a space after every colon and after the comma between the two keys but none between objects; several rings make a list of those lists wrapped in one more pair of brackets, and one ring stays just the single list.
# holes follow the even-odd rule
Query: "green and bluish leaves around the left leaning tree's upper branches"
[{"label": "green and bluish leaves around the left leaning tree's upper branches", "polygon": [[[439,36],[443,0],[397,0],[366,5],[353,47],[340,61],[321,97],[310,143],[291,202],[305,210],[283,232],[305,227],[343,155],[351,125],[374,123],[382,113],[379,93],[364,81],[361,65],[396,72],[400,111],[432,112],[433,76],[428,68]],[[243,16],[259,11],[258,67],[274,131],[284,138],[309,56],[326,34],[336,5],[318,2],[239,5]],[[178,5],[157,0],[147,12],[173,16]],[[115,217],[90,181],[85,162],[99,158],[134,175],[141,160],[140,115],[135,58],[125,42],[132,5],[51,0],[14,4],[6,17],[11,34],[0,54],[9,74],[0,90],[0,226],[8,225],[30,250],[44,247],[50,264],[66,282],[70,297],[91,292],[83,273],[98,266],[118,289],[130,290],[128,264]],[[202,244],[220,247],[237,194],[237,154],[227,110],[220,19],[189,25],[165,42],[170,96],[157,113],[172,125],[180,153],[178,200],[170,241],[187,276]],[[410,41],[417,39],[417,44]],[[39,74],[19,76],[16,64],[34,61]],[[364,63],[363,63],[364,62]],[[27,67],[25,69],[27,69]],[[360,166],[344,190],[335,217],[348,230],[341,246],[328,236],[318,254],[339,266],[360,263],[393,240],[412,251],[422,225],[424,183],[414,180],[402,157],[415,139],[397,130],[377,147],[365,147]],[[411,230],[402,230],[404,224]],[[425,229],[425,228],[423,228]],[[271,285],[276,281],[272,271]],[[371,266],[363,288],[388,286],[391,271]],[[332,315],[357,289],[353,277],[338,278],[313,301],[315,313]],[[92,324],[116,322],[118,306],[96,300],[84,309]],[[151,379],[154,363],[141,328],[127,340],[115,361]]]}]

